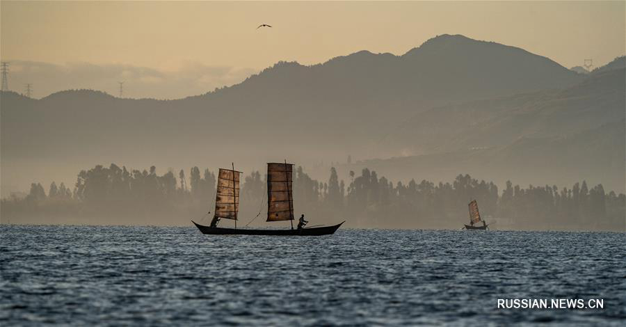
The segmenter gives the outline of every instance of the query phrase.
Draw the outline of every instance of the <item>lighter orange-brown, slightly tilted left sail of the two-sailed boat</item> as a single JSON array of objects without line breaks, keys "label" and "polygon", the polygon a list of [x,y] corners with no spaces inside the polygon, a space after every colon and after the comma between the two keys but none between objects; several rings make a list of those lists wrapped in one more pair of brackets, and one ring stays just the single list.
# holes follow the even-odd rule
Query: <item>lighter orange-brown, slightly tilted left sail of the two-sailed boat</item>
[{"label": "lighter orange-brown, slightly tilted left sail of the two-sailed boat", "polygon": [[237,220],[239,212],[239,174],[241,172],[220,168],[215,199],[215,216]]}]

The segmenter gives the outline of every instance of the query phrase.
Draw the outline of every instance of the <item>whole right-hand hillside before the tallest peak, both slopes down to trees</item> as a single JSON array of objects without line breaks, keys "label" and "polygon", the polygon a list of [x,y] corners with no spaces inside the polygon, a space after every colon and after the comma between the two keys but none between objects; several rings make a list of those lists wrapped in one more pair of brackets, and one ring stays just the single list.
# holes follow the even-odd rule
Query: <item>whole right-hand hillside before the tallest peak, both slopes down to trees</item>
[{"label": "whole right-hand hillside before the tallest peak, both slopes down to trees", "polygon": [[441,106],[416,115],[380,146],[406,157],[365,160],[392,179],[449,180],[459,172],[520,184],[576,180],[626,191],[626,70],[595,72],[564,90]]}]

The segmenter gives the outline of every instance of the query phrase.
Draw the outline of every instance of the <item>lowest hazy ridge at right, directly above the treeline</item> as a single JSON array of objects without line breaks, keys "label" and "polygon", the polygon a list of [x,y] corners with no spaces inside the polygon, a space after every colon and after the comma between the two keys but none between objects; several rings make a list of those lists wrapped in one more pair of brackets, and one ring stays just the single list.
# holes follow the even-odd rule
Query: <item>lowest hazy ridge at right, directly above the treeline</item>
[{"label": "lowest hazy ridge at right, directly above the treeline", "polygon": [[504,186],[515,184],[571,187],[574,182],[602,183],[626,191],[624,118],[571,136],[521,137],[501,147],[463,149],[391,159],[371,159],[337,168],[339,175],[362,168],[376,170],[389,180],[447,181],[459,173]]}]

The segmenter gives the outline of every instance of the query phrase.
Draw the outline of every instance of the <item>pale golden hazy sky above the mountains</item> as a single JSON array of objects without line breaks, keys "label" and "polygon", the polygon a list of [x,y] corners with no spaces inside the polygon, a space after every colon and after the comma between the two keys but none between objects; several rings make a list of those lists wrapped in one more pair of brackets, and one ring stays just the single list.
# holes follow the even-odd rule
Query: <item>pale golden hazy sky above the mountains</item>
[{"label": "pale golden hazy sky above the mountains", "polygon": [[[625,2],[1,1],[10,88],[35,97],[96,88],[184,97],[277,61],[314,64],[367,49],[403,54],[444,33],[522,47],[565,67],[625,54]],[[256,29],[259,24],[272,29]],[[13,86],[13,87],[11,87]]]}]

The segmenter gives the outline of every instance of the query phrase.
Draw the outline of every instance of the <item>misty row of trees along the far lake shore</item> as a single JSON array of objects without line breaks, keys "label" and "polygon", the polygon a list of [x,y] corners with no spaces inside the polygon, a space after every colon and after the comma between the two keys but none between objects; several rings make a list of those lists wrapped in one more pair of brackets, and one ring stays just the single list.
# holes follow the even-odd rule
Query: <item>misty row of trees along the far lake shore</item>
[{"label": "misty row of trees along the far lake shore", "polygon": [[[202,216],[214,209],[216,175],[209,169],[201,174],[198,167],[188,174],[180,170],[158,175],[154,166],[149,170],[95,166],[82,170],[72,188],[52,182],[46,191],[33,183],[29,194],[3,198],[0,223],[175,226],[189,225],[190,219],[201,223]],[[294,199],[298,215],[305,214],[315,224],[346,220],[346,228],[455,230],[467,223],[467,203],[475,199],[485,221],[495,223],[496,230],[625,232],[626,196],[585,181],[570,188],[506,182],[500,191],[493,182],[470,175],[458,175],[452,182],[403,184],[367,168],[339,180],[335,168],[330,168],[328,180],[319,181],[298,167]],[[253,171],[241,184],[238,225],[243,227],[256,216],[250,227],[267,226],[266,202],[264,174]],[[230,226],[232,221],[222,224]]]}]

